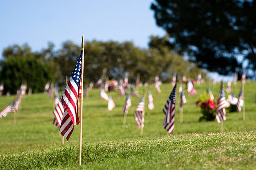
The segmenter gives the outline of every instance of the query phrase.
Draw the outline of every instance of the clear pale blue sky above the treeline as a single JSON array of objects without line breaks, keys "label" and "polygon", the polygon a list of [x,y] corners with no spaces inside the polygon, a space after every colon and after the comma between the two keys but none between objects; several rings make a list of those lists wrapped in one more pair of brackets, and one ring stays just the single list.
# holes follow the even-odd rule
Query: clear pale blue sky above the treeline
[{"label": "clear pale blue sky above the treeline", "polygon": [[129,40],[147,47],[150,35],[164,35],[150,10],[153,0],[1,0],[0,58],[8,45],[27,42],[33,51],[48,41]]}]

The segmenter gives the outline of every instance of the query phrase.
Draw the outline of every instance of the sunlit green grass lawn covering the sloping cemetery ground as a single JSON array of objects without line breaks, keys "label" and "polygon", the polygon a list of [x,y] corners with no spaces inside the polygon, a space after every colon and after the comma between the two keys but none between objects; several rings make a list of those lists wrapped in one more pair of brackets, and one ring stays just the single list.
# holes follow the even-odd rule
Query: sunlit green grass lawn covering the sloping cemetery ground
[{"label": "sunlit green grass lawn covering the sloping cemetery ground", "polygon": [[[238,83],[239,84],[239,83]],[[126,125],[123,126],[125,96],[112,93],[116,107],[108,112],[107,102],[99,97],[100,90],[89,92],[83,107],[82,166],[78,165],[79,126],[69,142],[61,145],[61,136],[53,121],[53,104],[46,94],[25,96],[17,124],[13,113],[0,119],[0,169],[256,169],[256,82],[246,82],[246,120],[242,113],[227,113],[224,134],[215,120],[199,122],[202,115],[195,101],[206,90],[206,84],[195,86],[197,95],[188,95],[179,122],[176,105],[174,135],[161,125],[164,106],[172,87],[161,86],[154,97],[154,110],[145,111],[143,136],[133,119],[139,98],[132,97]],[[210,85],[217,98],[219,84]],[[238,95],[240,87],[232,86]],[[142,93],[140,88],[139,92]],[[226,95],[227,96],[227,95]],[[14,96],[0,97],[0,108]]]}]

